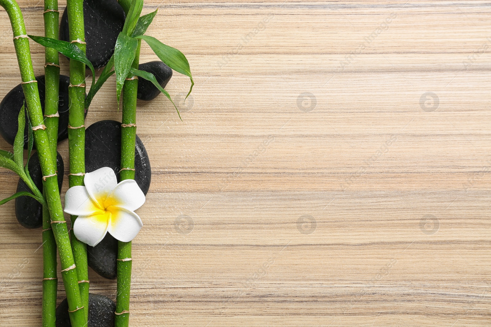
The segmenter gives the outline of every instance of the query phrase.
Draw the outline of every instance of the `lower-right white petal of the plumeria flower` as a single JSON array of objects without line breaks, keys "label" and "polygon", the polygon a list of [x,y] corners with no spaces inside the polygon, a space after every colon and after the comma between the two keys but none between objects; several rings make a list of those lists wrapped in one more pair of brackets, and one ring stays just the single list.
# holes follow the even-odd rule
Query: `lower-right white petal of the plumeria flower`
[{"label": "lower-right white petal of the plumeria flower", "polygon": [[[143,226],[140,217],[133,211],[120,207],[109,207],[111,219],[109,221],[109,234],[121,242],[133,240]],[[77,222],[76,222],[77,223]]]}]

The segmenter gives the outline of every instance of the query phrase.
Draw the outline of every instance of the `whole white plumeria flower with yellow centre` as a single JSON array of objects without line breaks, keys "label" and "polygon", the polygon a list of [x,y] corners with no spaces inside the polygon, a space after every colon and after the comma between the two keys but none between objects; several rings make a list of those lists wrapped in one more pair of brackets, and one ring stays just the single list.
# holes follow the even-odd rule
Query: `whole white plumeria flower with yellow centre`
[{"label": "whole white plumeria flower with yellow centre", "polygon": [[145,195],[133,179],[117,182],[116,174],[103,167],[83,178],[85,186],[73,186],[65,194],[64,211],[79,216],[73,232],[82,242],[96,246],[109,232],[122,242],[133,240],[143,226],[134,212]]}]

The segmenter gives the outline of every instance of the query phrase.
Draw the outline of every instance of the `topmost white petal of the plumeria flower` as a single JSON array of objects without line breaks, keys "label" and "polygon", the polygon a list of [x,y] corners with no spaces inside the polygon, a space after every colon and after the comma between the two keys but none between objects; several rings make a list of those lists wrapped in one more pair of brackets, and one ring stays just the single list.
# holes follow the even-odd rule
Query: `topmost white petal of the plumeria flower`
[{"label": "topmost white petal of the plumeria flower", "polygon": [[87,192],[95,202],[102,208],[104,201],[118,184],[116,174],[109,167],[102,167],[92,173],[86,173],[83,183]]}]

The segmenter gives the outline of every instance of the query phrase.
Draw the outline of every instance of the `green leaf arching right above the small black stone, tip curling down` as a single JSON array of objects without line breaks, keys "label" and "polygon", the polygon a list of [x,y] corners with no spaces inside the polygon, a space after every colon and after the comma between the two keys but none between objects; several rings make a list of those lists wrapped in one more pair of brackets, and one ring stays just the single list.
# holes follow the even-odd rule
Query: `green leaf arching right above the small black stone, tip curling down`
[{"label": "green leaf arching right above the small black stone, tip curling down", "polygon": [[157,56],[170,68],[178,73],[184,74],[191,78],[191,88],[189,89],[186,99],[191,94],[192,86],[194,81],[192,80],[191,68],[189,67],[188,59],[179,50],[169,47],[164,43],[160,42],[156,38],[148,35],[136,36],[137,39],[145,40],[145,42],[152,48],[152,50],[157,54]]}]

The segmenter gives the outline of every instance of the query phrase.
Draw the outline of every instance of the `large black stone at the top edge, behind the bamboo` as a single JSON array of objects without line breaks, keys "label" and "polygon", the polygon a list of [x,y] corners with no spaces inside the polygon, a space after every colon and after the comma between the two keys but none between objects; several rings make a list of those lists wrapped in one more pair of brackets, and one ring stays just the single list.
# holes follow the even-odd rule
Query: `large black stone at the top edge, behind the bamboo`
[{"label": "large black stone at the top edge, behind the bamboo", "polygon": [[[106,66],[114,53],[125,14],[116,0],[83,0],[86,56],[94,67]],[[60,40],[69,41],[68,13],[65,8],[60,23]]]}]

